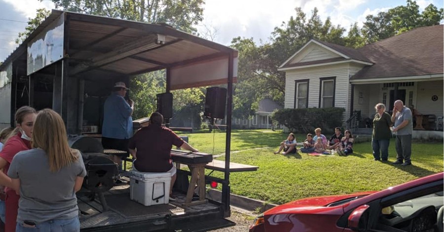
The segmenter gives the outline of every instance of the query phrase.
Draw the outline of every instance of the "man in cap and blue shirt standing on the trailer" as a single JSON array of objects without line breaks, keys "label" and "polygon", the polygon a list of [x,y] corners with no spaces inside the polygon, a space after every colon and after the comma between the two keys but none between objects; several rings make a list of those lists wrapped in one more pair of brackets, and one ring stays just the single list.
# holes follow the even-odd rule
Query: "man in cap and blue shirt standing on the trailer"
[{"label": "man in cap and blue shirt standing on the trailer", "polygon": [[[105,100],[103,109],[102,145],[105,149],[115,149],[128,152],[128,142],[133,135],[134,102],[123,98],[129,89],[124,82],[116,82],[112,87],[111,95]],[[122,160],[128,153],[112,155],[112,160],[121,170]],[[125,181],[116,180],[116,185],[126,184]]]}]

